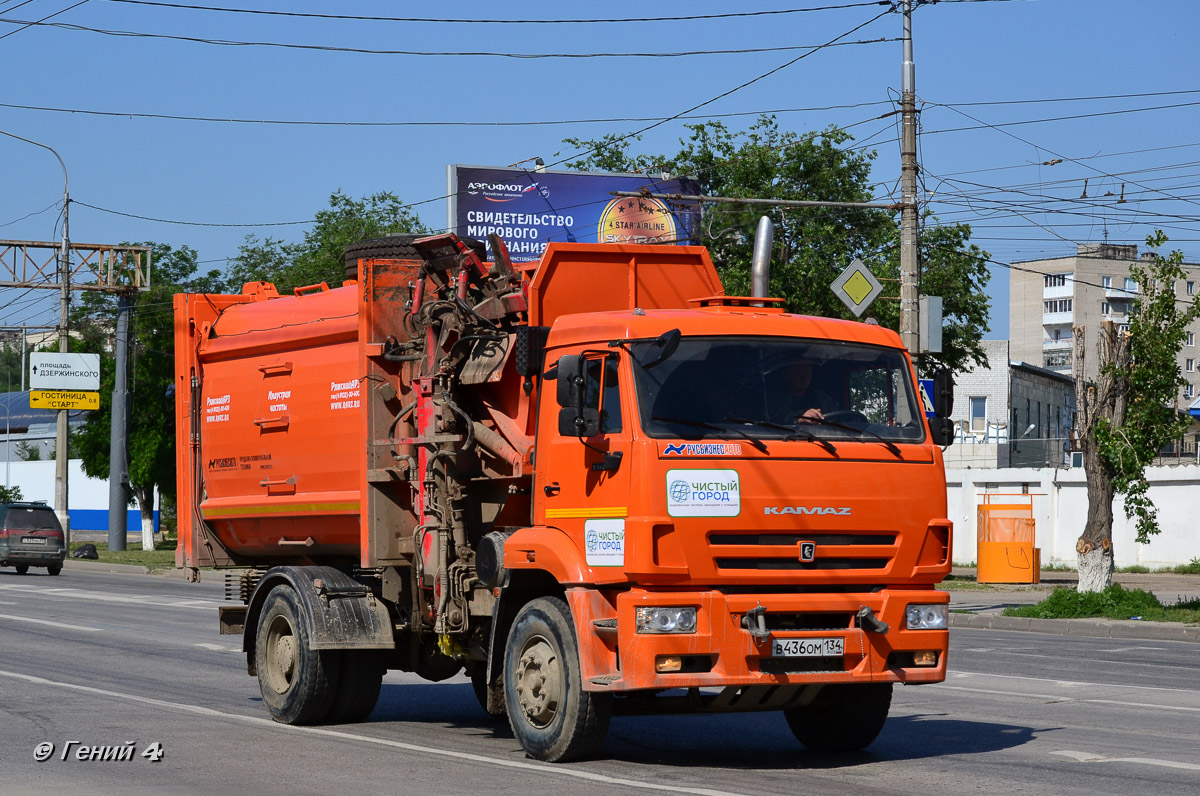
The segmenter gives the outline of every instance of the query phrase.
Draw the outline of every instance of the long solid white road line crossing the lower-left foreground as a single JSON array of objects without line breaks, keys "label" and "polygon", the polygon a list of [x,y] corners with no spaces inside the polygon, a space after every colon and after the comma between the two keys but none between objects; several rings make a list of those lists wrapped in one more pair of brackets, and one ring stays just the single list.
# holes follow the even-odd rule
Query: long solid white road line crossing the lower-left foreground
[{"label": "long solid white road line crossing the lower-left foreground", "polygon": [[529,760],[508,760],[505,758],[490,758],[487,755],[474,754],[470,752],[454,752],[451,749],[440,749],[437,747],[422,747],[416,743],[406,743],[403,741],[390,741],[388,738],[374,738],[371,737],[370,735],[359,735],[356,732],[347,732],[344,730],[328,730],[324,728],[313,728],[313,726],[290,726],[288,724],[278,724],[276,722],[272,722],[271,719],[257,716],[226,713],[224,711],[212,710],[211,707],[200,707],[199,705],[185,705],[182,702],[169,702],[167,700],[154,699],[151,696],[138,696],[137,694],[122,694],[120,692],[110,692],[103,688],[95,688],[92,686],[79,686],[77,683],[60,683],[53,680],[46,680],[44,677],[36,677],[34,675],[25,675],[18,671],[0,670],[0,677],[20,680],[28,683],[34,683],[36,686],[49,686],[52,688],[62,688],[66,690],[82,692],[85,694],[95,694],[97,696],[121,699],[130,702],[140,702],[143,705],[151,705],[154,707],[176,710],[185,713],[194,713],[197,716],[206,716],[210,718],[242,722],[245,724],[271,728],[274,730],[282,730],[284,732],[304,732],[308,735],[322,735],[325,737],[340,738],[343,741],[374,743],[378,746],[390,747],[394,749],[404,749],[406,752],[416,752],[439,758],[454,758],[456,760],[467,760],[470,762],[480,762],[503,768],[520,768],[522,771],[532,771],[540,774],[550,774],[552,777],[570,777],[574,779],[586,779],[588,782],[598,782],[608,785],[641,788],[643,790],[665,790],[676,794],[696,794],[697,796],[738,796],[737,794],[731,794],[730,791],[724,791],[724,790],[710,790],[707,788],[682,788],[679,785],[662,785],[659,783],[644,782],[641,779],[625,779],[624,777],[610,777],[607,774],[601,774],[592,771],[582,771],[580,768],[566,768],[558,764],[533,762]]}]

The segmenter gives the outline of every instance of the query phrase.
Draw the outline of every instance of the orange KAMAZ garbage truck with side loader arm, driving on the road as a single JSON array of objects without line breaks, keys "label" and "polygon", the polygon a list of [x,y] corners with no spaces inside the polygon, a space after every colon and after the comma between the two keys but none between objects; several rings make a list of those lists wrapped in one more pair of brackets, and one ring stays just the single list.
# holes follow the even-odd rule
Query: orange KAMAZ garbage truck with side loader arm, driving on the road
[{"label": "orange KAMAZ garbage truck with side loader arm, driving on the road", "polygon": [[953,387],[725,295],[698,246],[354,244],[347,281],[175,297],[176,564],[287,724],[466,671],[533,758],[628,712],[852,750],[944,680]]}]

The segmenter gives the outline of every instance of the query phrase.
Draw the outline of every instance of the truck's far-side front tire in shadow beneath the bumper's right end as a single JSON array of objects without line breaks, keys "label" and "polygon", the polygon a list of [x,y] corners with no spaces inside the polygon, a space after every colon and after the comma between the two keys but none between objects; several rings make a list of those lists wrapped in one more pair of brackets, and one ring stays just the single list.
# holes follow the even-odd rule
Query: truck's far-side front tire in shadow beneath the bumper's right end
[{"label": "truck's far-side front tire in shadow beneath the bumper's right end", "polygon": [[892,683],[827,686],[811,705],[784,711],[796,740],[814,752],[858,752],[883,729]]}]

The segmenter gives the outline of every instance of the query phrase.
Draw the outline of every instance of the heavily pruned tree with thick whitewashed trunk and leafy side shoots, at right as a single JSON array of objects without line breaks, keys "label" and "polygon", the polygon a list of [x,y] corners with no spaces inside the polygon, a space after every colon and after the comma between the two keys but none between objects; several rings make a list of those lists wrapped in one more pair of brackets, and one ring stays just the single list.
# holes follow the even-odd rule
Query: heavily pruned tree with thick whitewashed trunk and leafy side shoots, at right
[{"label": "heavily pruned tree with thick whitewashed trunk and leafy side shoots, at right", "polygon": [[[1162,231],[1146,239],[1152,250],[1166,243]],[[1150,499],[1146,467],[1168,442],[1188,427],[1176,403],[1186,383],[1178,353],[1187,327],[1200,316],[1195,300],[1176,299],[1175,282],[1184,279],[1183,253],[1168,257],[1153,251],[1148,262],[1129,267],[1138,299],[1129,331],[1102,324],[1094,381],[1084,379],[1085,329],[1075,329],[1075,436],[1084,453],[1087,478],[1087,519],[1075,543],[1079,591],[1098,592],[1112,585],[1112,499],[1124,496],[1134,519],[1138,543],[1148,544],[1159,532],[1158,509]]]}]

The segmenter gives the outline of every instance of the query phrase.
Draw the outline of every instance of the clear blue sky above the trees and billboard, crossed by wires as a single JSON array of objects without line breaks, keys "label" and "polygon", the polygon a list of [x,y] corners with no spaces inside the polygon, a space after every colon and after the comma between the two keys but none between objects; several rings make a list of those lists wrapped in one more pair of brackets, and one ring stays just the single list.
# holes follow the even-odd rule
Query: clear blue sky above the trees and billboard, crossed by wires
[{"label": "clear blue sky above the trees and billboard, crossed by wires", "polygon": [[[876,40],[899,38],[901,19],[886,13],[887,6],[862,0],[196,4],[452,19],[658,18],[851,6],[608,24],[311,19],[164,7],[184,5],[181,0],[76,4],[0,0],[0,74],[6,78],[0,130],[48,144],[62,156],[78,202],[71,210],[77,241],[188,245],[202,261],[220,267],[247,233],[292,239],[305,227],[216,225],[311,219],[336,190],[352,196],[392,191],[419,203],[421,217],[440,227],[448,163],[508,166],[534,156],[553,163],[575,151],[562,143],[565,137],[625,133],[653,124],[557,122],[673,116],[804,52],[516,59],[348,49],[578,54],[794,48],[822,44],[883,13],[842,40],[851,43],[815,52],[696,115],[748,114],[724,119],[744,128],[756,113],[786,109],[778,114],[781,126],[798,132],[853,125],[858,143],[877,151],[872,179],[878,196],[894,192],[899,176],[895,118],[880,116],[898,96],[900,42]],[[970,222],[973,240],[1002,263],[1067,255],[1076,243],[1103,240],[1105,231],[1112,243],[1139,243],[1154,226],[1166,229],[1172,247],[1189,261],[1200,261],[1198,16],[1198,4],[1189,0],[943,0],[919,7],[913,37],[923,102],[920,160],[932,211],[943,221]],[[43,18],[24,29],[14,24]],[[822,109],[799,110],[811,108]],[[409,124],[242,124],[134,114]],[[514,121],[540,124],[496,124]],[[647,131],[635,151],[676,151],[684,124],[672,120]],[[1061,162],[1044,164],[1054,161]],[[0,238],[56,240],[62,175],[54,157],[0,137]],[[84,203],[192,223],[133,219]],[[989,336],[1006,337],[1008,273],[1001,265],[992,271]],[[0,324],[53,323],[55,301],[49,292],[0,289]]]}]

